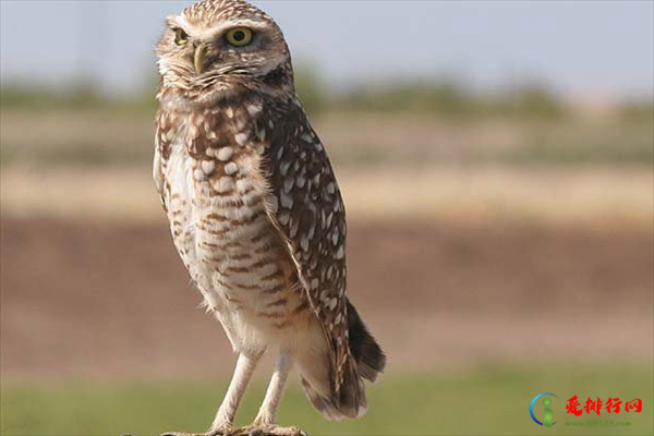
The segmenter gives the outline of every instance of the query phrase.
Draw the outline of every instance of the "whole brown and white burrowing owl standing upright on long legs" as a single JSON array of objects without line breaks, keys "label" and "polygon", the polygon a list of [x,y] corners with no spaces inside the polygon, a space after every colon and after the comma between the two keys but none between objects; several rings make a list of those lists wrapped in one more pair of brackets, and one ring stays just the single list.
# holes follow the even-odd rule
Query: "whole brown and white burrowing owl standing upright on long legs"
[{"label": "whole brown and white burrowing owl standing upright on long legs", "polygon": [[[329,419],[366,410],[385,356],[346,296],[346,211],[275,21],[242,0],[169,16],[157,47],[154,177],[180,256],[238,353],[209,433],[232,432],[256,363],[279,353],[250,429],[275,426],[294,363]],[[286,433],[284,433],[286,432]]]}]

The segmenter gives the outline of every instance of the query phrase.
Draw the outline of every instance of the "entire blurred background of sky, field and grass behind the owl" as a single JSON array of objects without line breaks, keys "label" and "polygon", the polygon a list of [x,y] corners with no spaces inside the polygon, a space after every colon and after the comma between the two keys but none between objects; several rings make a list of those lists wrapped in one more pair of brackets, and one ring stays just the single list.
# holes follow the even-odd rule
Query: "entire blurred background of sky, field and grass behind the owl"
[{"label": "entire blurred background of sky, field and grass behind the owl", "polygon": [[[2,1],[7,435],[210,423],[234,356],[198,308],[150,179],[154,45],[190,2]],[[388,353],[371,410],[313,435],[652,434],[650,1],[257,2],[349,216],[349,293]],[[270,362],[238,416],[249,423]],[[566,400],[641,413],[585,422]],[[540,419],[542,408],[536,411]]]}]

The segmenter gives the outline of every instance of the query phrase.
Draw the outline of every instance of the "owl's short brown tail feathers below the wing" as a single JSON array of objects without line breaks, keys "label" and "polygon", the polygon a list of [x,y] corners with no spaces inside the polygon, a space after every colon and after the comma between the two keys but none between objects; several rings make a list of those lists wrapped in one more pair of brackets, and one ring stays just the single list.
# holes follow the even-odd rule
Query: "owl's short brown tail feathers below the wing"
[{"label": "owl's short brown tail feathers below the wing", "polygon": [[310,354],[295,361],[306,396],[329,420],[363,416],[367,410],[364,379],[375,382],[386,366],[386,355],[349,301],[348,330],[352,359],[346,362],[343,384],[338,393],[334,391],[331,368],[324,364],[328,362],[326,356],[315,359],[316,355]]}]

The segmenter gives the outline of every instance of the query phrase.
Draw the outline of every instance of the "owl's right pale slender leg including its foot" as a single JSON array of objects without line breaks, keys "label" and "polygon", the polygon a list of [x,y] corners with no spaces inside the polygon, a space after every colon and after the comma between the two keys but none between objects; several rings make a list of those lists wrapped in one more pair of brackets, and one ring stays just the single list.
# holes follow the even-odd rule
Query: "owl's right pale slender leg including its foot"
[{"label": "owl's right pale slender leg including its foot", "polygon": [[266,435],[266,436],[306,436],[300,428],[296,427],[279,427],[275,425],[277,416],[277,408],[281,400],[283,387],[289,377],[291,371],[292,360],[289,353],[281,352],[277,360],[277,365],[264,402],[254,420],[252,425],[243,428],[239,428],[230,434],[230,436],[245,436],[245,435]]}]

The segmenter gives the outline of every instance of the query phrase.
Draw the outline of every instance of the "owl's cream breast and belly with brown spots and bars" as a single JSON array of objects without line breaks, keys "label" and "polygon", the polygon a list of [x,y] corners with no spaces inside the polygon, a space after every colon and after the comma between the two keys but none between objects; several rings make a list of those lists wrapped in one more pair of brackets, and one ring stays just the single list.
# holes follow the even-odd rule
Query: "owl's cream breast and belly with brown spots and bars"
[{"label": "owl's cream breast and belly with brown spots and bars", "polygon": [[[261,98],[199,111],[162,105],[157,117],[155,179],[174,244],[239,350],[317,329],[288,245],[266,211],[275,197],[262,157],[274,123],[259,122],[264,106]],[[280,335],[284,329],[294,332]]]}]

